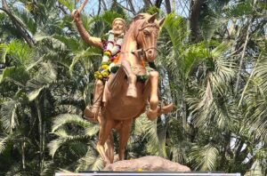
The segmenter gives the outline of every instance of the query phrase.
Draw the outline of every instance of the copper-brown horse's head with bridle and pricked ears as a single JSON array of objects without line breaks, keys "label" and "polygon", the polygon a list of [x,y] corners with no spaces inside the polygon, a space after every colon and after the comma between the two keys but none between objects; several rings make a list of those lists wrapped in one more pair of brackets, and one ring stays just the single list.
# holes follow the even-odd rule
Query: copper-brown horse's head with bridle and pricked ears
[{"label": "copper-brown horse's head with bridle and pricked ears", "polygon": [[157,56],[157,39],[160,26],[165,19],[157,20],[157,13],[150,15],[141,13],[135,18],[135,40],[137,48],[142,50],[146,61],[153,61]]}]

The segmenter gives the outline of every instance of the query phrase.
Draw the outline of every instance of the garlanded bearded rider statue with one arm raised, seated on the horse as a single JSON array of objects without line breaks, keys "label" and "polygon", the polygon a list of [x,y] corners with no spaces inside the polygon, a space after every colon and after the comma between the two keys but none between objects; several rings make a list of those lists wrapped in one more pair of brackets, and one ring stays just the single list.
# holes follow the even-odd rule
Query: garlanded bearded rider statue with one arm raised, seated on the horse
[{"label": "garlanded bearded rider statue with one arm raised, seated on the horse", "polygon": [[102,94],[104,90],[104,82],[109,76],[109,68],[117,62],[120,52],[120,47],[123,42],[125,34],[125,20],[116,18],[112,22],[112,29],[109,31],[108,40],[103,40],[99,37],[90,36],[85,30],[83,22],[80,19],[80,12],[74,10],[71,13],[72,19],[75,21],[77,30],[85,43],[99,47],[103,50],[103,57],[101,61],[101,68],[96,71],[94,92],[93,92],[93,107],[87,106],[85,108],[85,118],[91,121],[97,121],[99,109],[101,107]]}]

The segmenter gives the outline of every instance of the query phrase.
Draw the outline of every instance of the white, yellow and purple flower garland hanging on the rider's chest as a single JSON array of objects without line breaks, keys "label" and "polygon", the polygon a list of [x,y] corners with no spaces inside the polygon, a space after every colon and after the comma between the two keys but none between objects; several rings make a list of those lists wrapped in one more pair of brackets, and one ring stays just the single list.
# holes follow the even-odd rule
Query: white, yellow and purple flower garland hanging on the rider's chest
[{"label": "white, yellow and purple flower garland hanging on the rider's chest", "polygon": [[101,67],[98,71],[94,72],[94,76],[97,79],[107,79],[110,74],[110,69],[115,66],[117,60],[119,59],[119,52],[121,49],[121,44],[123,43],[123,36],[121,34],[117,37],[115,41],[114,33],[109,30],[108,41],[104,44],[104,53],[101,61]]}]

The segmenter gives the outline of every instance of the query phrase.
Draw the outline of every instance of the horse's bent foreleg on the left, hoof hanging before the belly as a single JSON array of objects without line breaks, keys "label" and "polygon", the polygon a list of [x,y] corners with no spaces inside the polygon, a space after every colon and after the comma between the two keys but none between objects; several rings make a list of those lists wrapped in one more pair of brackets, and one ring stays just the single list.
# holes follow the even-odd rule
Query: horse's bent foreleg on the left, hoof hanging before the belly
[{"label": "horse's bent foreleg on the left, hoof hanging before the belly", "polygon": [[126,92],[126,95],[128,97],[137,97],[137,91],[136,91],[136,76],[134,75],[134,72],[132,71],[131,65],[128,60],[123,60],[121,62],[121,66],[125,70],[125,74],[128,78],[128,90]]}]

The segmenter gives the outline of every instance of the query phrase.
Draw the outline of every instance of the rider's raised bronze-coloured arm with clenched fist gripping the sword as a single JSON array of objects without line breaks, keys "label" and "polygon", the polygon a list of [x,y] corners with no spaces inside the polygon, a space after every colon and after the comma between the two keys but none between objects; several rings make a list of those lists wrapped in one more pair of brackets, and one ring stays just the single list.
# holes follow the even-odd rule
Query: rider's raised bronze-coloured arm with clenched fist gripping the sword
[{"label": "rider's raised bronze-coloured arm with clenched fist gripping the sword", "polygon": [[103,48],[101,38],[90,36],[89,33],[86,31],[83,25],[83,21],[80,19],[80,13],[77,10],[74,10],[73,12],[71,12],[71,17],[75,21],[77,30],[86,44],[90,44],[96,47]]}]

